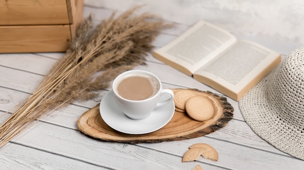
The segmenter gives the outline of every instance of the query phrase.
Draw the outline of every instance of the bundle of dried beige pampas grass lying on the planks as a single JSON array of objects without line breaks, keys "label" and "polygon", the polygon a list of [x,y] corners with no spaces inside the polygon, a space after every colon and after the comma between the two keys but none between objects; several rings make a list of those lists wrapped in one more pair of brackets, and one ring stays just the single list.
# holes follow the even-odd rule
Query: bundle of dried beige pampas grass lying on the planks
[{"label": "bundle of dried beige pampas grass lying on the planks", "polygon": [[[80,23],[66,55],[0,125],[0,147],[53,110],[74,100],[92,99],[95,91],[107,88],[118,74],[145,64],[152,41],[171,25],[152,14],[135,16],[138,8],[117,18],[113,13],[96,27],[92,16]],[[93,77],[96,73],[100,76]]]}]

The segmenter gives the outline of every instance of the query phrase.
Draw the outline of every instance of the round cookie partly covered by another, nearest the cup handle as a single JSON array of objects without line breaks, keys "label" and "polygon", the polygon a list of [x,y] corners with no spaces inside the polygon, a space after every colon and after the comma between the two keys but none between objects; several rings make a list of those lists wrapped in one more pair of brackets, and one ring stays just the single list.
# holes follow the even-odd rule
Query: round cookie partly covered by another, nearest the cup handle
[{"label": "round cookie partly covered by another, nearest the cup handle", "polygon": [[190,90],[182,89],[174,93],[174,104],[176,108],[186,110],[186,101],[196,94]]}]

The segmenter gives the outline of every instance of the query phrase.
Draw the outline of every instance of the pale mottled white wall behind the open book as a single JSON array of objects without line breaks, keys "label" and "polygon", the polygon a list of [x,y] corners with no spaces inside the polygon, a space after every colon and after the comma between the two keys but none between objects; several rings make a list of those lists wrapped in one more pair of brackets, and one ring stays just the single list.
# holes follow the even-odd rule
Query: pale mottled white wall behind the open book
[{"label": "pale mottled white wall behind the open book", "polygon": [[[218,25],[239,39],[261,43],[282,54],[304,46],[304,0],[85,0],[85,5],[140,10],[187,25],[199,19]],[[120,5],[117,5],[117,4]],[[123,5],[121,5],[123,3]],[[191,11],[189,13],[189,11]],[[275,44],[275,45],[274,45]]]}]

